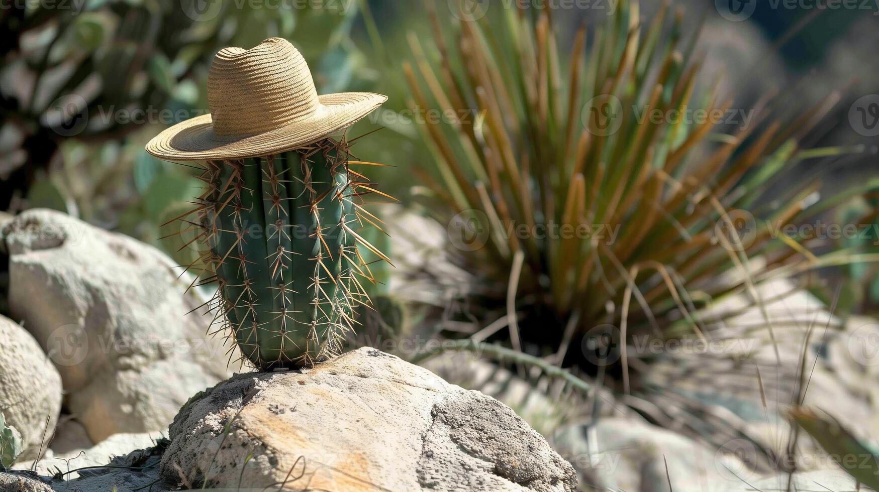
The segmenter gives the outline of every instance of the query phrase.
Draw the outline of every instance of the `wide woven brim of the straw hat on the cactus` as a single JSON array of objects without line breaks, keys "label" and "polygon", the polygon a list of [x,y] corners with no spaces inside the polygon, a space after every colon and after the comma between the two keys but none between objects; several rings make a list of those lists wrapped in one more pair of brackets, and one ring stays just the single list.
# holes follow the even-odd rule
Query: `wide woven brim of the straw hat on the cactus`
[{"label": "wide woven brim of the straw hat on the cactus", "polygon": [[147,144],[147,152],[168,161],[207,161],[271,156],[323,140],[365,118],[387,96],[342,92],[318,96],[320,107],[309,119],[235,141],[214,135],[210,114],[165,129]]}]

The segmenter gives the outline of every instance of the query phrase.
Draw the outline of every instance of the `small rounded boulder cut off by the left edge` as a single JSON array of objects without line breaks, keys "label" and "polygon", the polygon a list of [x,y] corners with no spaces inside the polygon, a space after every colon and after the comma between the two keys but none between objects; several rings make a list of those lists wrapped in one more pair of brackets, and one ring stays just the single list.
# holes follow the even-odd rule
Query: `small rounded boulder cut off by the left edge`
[{"label": "small rounded boulder cut off by the left edge", "polygon": [[30,333],[0,316],[0,411],[22,438],[21,459],[35,458],[61,413],[61,376]]}]

